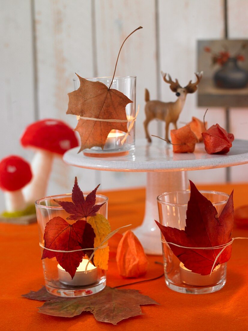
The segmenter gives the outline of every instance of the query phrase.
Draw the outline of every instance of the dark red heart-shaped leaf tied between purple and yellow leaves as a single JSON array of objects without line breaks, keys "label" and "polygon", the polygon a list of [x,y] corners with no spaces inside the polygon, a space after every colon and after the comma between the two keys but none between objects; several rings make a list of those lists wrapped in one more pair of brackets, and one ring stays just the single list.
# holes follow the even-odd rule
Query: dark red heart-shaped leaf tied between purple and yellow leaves
[{"label": "dark red heart-shaped leaf tied between purple and yellow leaves", "polygon": [[[44,246],[59,251],[74,251],[94,247],[95,233],[86,220],[69,224],[62,217],[53,217],[47,223],[44,232]],[[65,271],[73,278],[83,257],[91,255],[92,250],[72,253],[58,253],[44,249],[42,259],[56,258]],[[92,260],[91,260],[92,261]]]}]

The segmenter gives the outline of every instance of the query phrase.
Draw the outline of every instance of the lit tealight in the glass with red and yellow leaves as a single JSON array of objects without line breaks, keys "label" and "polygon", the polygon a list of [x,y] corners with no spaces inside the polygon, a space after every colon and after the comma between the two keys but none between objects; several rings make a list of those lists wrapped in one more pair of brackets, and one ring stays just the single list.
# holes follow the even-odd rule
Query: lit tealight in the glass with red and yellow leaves
[{"label": "lit tealight in the glass with red and yellow leaves", "polygon": [[87,259],[82,260],[77,267],[73,279],[71,279],[71,275],[58,264],[57,268],[59,281],[65,285],[73,286],[85,286],[95,283],[97,281],[97,267],[95,267],[92,263],[89,263],[87,266],[87,273],[85,273],[87,263]]}]

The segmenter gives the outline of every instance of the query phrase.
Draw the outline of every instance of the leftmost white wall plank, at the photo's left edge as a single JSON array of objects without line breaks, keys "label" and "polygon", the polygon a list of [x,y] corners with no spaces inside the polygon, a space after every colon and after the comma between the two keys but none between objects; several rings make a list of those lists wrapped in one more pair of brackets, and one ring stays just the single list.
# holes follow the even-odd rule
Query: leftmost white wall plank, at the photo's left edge
[{"label": "leftmost white wall plank, at the photo's left edge", "polygon": [[[30,160],[19,137],[35,120],[31,3],[0,1],[0,17],[0,159],[17,154]],[[3,208],[0,190],[0,211]]]}]

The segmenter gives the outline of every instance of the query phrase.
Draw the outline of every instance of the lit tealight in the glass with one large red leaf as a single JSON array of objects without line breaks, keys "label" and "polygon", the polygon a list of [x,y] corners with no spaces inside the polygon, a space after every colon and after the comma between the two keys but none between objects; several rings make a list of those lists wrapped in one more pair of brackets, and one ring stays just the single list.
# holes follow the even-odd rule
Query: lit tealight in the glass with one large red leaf
[{"label": "lit tealight in the glass with one large red leaf", "polygon": [[182,262],[179,264],[181,281],[193,286],[209,286],[218,283],[221,278],[220,265],[217,265],[212,271],[211,276],[202,276],[187,269]]}]

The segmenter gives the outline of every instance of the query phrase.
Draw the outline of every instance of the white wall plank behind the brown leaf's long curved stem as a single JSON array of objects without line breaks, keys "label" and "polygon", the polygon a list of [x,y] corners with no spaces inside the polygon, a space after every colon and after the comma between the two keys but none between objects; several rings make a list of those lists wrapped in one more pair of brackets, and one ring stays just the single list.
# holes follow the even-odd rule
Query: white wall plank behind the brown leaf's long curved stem
[{"label": "white wall plank behind the brown leaf's long curved stem", "polygon": [[[136,75],[136,104],[140,113],[136,121],[136,138],[144,137],[144,88],[157,97],[155,1],[96,0],[97,75],[111,76],[119,48],[125,37],[143,26],[125,43],[119,58],[117,76]],[[152,123],[157,132],[157,123]],[[101,171],[103,188],[144,186],[145,173]]]}]

